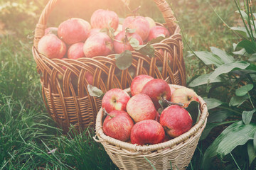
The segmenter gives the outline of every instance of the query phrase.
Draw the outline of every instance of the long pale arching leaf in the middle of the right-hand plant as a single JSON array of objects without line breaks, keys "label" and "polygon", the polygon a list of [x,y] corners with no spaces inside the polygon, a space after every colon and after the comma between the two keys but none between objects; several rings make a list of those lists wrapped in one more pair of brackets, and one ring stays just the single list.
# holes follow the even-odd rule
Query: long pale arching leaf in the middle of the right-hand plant
[{"label": "long pale arching leaf in the middle of the right-hand plant", "polygon": [[228,64],[223,64],[210,74],[210,77],[208,79],[209,83],[213,80],[215,80],[220,74],[228,73],[233,71],[233,69],[246,69],[248,66],[250,66],[250,63],[238,61]]}]

